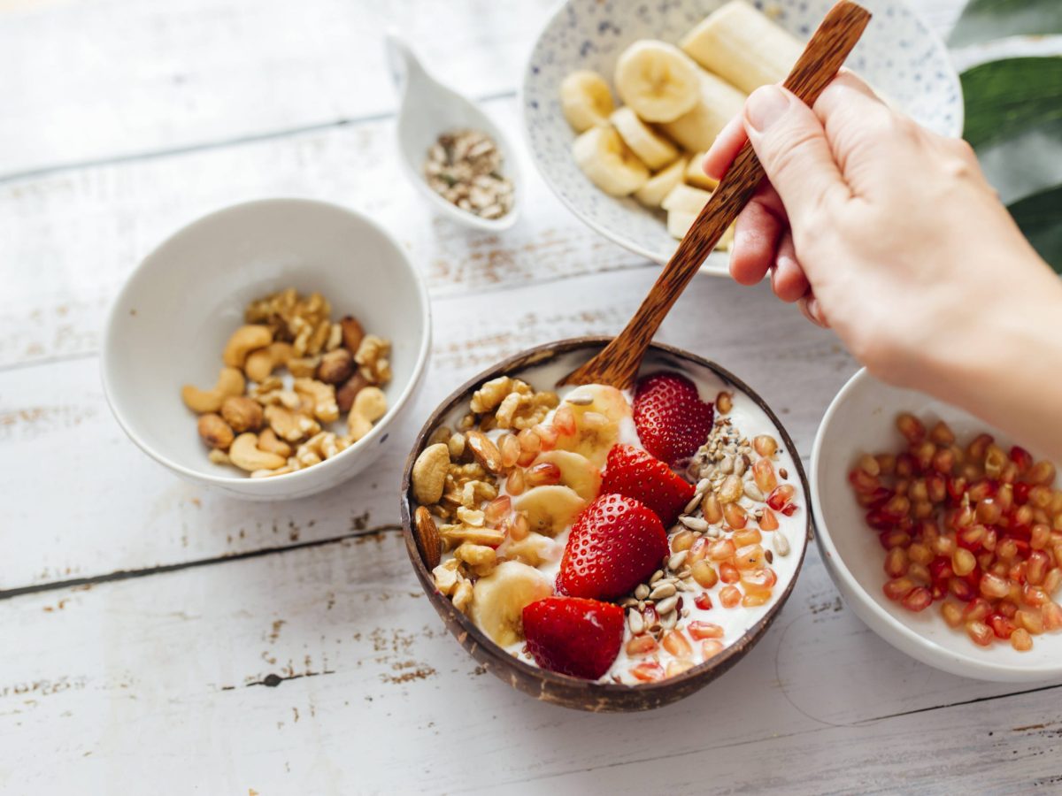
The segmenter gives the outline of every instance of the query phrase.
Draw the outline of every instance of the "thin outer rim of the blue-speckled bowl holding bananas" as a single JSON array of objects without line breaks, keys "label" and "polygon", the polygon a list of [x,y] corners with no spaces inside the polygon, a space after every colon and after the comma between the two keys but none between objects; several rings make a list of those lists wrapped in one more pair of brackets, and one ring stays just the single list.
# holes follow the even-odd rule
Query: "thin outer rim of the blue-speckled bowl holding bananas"
[{"label": "thin outer rim of the blue-speckled bowl holding bananas", "polygon": [[[532,76],[534,74],[532,70],[533,66],[532,59],[534,58],[535,53],[538,51],[538,42],[542,40],[542,37],[546,33],[547,29],[551,28],[553,23],[558,20],[558,18],[561,17],[564,11],[575,1],[576,0],[559,0],[559,2],[550,11],[549,16],[538,28],[538,32],[535,34],[534,40],[531,42],[531,47],[528,49],[527,55],[524,59],[523,79],[520,80],[519,92],[517,94],[517,103],[519,104],[520,128],[523,134],[521,137],[524,139],[524,145],[527,149],[528,153],[530,154],[531,160],[532,162],[534,162],[535,170],[538,172],[538,175],[542,177],[543,181],[547,186],[549,186],[550,192],[561,201],[561,204],[564,205],[571,212],[572,215],[575,215],[577,219],[579,219],[579,221],[581,221],[583,224],[585,224],[590,229],[596,231],[598,235],[607,238],[613,243],[616,243],[626,248],[628,252],[638,255],[639,257],[644,257],[650,262],[655,262],[658,265],[664,265],[667,263],[667,260],[670,259],[670,256],[666,259],[662,259],[658,252],[654,252],[652,249],[647,248],[646,246],[640,245],[637,241],[634,241],[631,238],[626,237],[619,230],[614,230],[610,227],[598,224],[596,221],[588,219],[580,210],[578,204],[573,200],[570,200],[569,197],[565,196],[561,192],[561,190],[556,187],[550,175],[546,172],[546,168],[545,166],[543,166],[541,158],[538,158],[537,154],[535,153],[534,146],[531,145],[531,125],[530,125],[530,118],[528,115],[527,93],[528,93],[528,85],[531,82]],[[631,3],[634,2],[634,0],[626,0],[626,1]],[[891,2],[904,6],[907,10],[907,12],[911,15],[911,17],[913,17],[918,21],[918,23],[923,28],[923,30],[925,30],[930,41],[936,46],[936,48],[939,49],[941,52],[943,52],[945,56],[947,55],[947,45],[944,41],[943,37],[941,37],[941,35],[932,29],[932,27],[925,20],[922,14],[919,13],[918,8],[915,8],[911,3],[907,2],[907,0],[891,0]],[[961,138],[962,128],[965,123],[964,122],[965,103],[962,101],[962,82],[959,80],[959,73],[955,68],[955,65],[952,63],[952,58],[945,57],[945,62],[947,64],[947,71],[945,72],[944,76],[950,84],[950,86],[955,89],[959,98],[958,109],[955,114],[955,122],[953,124],[953,129],[948,133],[948,137]],[[679,241],[675,241],[675,245],[676,246],[679,245]],[[730,274],[729,267],[730,267],[729,257],[726,263],[720,263],[719,265],[709,265],[707,259],[705,259],[705,261],[701,263],[700,273],[708,274],[710,276],[727,276]]]}]

